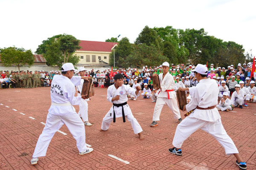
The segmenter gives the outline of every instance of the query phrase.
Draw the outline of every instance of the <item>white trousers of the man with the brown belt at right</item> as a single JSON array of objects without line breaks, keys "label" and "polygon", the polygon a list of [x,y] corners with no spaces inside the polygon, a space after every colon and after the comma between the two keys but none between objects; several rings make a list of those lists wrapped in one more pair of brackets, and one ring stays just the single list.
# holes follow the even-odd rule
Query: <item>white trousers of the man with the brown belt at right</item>
[{"label": "white trousers of the man with the brown belt at right", "polygon": [[172,144],[176,148],[181,148],[183,142],[196,130],[201,129],[211,134],[224,147],[227,155],[239,153],[236,145],[230,136],[227,135],[221,119],[215,122],[207,122],[197,118],[186,117],[179,125],[177,125],[175,136]]}]

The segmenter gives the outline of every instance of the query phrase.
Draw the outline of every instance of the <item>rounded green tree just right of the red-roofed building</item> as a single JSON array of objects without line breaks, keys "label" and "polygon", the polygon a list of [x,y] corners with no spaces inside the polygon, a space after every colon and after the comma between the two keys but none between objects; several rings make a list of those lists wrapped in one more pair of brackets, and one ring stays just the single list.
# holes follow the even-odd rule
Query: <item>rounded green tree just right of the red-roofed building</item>
[{"label": "rounded green tree just right of the red-roofed building", "polygon": [[[129,65],[126,62],[127,57],[131,54],[132,45],[127,37],[120,40],[115,48],[115,65],[117,67],[127,68]],[[109,65],[114,65],[114,51],[109,55]]]}]

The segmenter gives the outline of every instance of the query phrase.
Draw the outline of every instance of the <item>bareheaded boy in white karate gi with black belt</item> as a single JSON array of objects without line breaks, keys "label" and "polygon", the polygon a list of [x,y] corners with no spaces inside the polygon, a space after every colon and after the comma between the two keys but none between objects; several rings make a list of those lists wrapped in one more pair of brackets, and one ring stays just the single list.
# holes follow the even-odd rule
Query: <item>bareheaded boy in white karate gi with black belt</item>
[{"label": "bareheaded boy in white karate gi with black belt", "polygon": [[138,134],[140,140],[142,137],[142,128],[138,123],[137,119],[131,113],[131,109],[127,104],[127,95],[131,94],[132,96],[138,96],[140,93],[140,86],[131,88],[128,85],[124,85],[124,78],[122,74],[116,74],[114,76],[114,84],[108,87],[107,99],[109,102],[113,103],[113,107],[108,111],[106,116],[102,120],[101,131],[106,131],[110,127],[110,123],[116,122],[116,117],[122,117],[123,122],[125,122],[125,118],[131,123],[131,127],[134,130],[134,134]]}]

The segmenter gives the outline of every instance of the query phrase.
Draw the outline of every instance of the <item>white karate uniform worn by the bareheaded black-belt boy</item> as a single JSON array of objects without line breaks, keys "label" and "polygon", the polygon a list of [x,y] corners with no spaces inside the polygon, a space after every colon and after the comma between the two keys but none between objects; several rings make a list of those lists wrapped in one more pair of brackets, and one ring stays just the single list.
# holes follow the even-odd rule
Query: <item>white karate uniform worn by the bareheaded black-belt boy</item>
[{"label": "white karate uniform worn by the bareheaded black-belt boy", "polygon": [[[126,94],[131,94],[132,96],[137,96],[136,95],[136,90],[134,88],[131,88],[127,85],[122,85],[118,89],[116,89],[115,85],[111,85],[108,87],[108,95],[107,99],[109,102],[114,103],[114,104],[122,104],[127,102],[127,96]],[[116,97],[119,95],[119,100],[114,100],[113,102],[111,101],[113,97]],[[134,130],[134,134],[142,132],[142,128],[140,127],[140,124],[138,123],[137,119],[133,116],[131,113],[131,109],[128,104],[123,105],[124,108],[124,113],[125,113],[125,118],[131,123],[131,127]],[[115,111],[116,117],[122,117],[122,106],[116,107],[112,106],[108,113],[105,115],[105,117],[102,120],[102,130],[108,130],[110,123],[113,120],[113,109]]]}]

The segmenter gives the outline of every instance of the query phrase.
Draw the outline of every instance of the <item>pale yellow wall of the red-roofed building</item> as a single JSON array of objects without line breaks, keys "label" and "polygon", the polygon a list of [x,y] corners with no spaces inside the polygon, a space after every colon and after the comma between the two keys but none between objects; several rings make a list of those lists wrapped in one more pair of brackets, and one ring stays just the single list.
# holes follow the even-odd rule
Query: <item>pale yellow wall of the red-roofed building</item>
[{"label": "pale yellow wall of the red-roofed building", "polygon": [[[109,63],[109,54],[111,52],[101,52],[101,51],[76,51],[75,54],[80,57],[80,61],[78,64],[99,64],[99,56],[101,60]],[[90,62],[86,62],[86,55],[90,55]],[[92,56],[96,56],[96,62],[92,62]],[[81,59],[81,56],[84,56],[84,59]],[[104,59],[107,57],[107,59]]]}]

